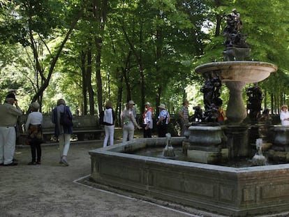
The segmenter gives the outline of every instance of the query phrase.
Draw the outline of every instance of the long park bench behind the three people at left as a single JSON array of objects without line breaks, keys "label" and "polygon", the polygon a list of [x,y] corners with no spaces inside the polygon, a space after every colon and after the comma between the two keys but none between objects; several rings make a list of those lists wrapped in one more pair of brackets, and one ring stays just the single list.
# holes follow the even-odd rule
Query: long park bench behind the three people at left
[{"label": "long park bench behind the three people at left", "polygon": [[[18,121],[18,138],[17,144],[24,144],[27,134],[24,132],[23,125],[26,123],[27,115],[22,115]],[[54,124],[52,117],[49,114],[43,114],[43,137],[44,142],[56,142],[54,137]],[[103,138],[104,129],[99,124],[97,116],[83,115],[73,116],[73,135],[71,140],[84,141],[84,140],[100,140]]]}]

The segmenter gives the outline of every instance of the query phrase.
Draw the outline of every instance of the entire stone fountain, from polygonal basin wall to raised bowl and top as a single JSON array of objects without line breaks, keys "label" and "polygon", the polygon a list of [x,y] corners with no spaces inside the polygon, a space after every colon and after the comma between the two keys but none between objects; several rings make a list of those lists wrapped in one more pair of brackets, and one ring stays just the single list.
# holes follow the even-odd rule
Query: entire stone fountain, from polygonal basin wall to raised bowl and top
[{"label": "entire stone fountain, from polygonal basin wall to raised bowl and top", "polygon": [[[229,18],[234,16],[228,15]],[[239,33],[239,21],[233,24]],[[229,32],[230,28],[226,31]],[[228,45],[225,50],[227,61],[207,63],[195,69],[204,76],[218,76],[230,89],[227,112],[230,124],[226,126],[225,136],[221,126],[190,126],[186,137],[170,137],[170,140],[141,138],[89,151],[89,181],[94,186],[166,206],[172,204],[175,209],[186,211],[186,207],[193,207],[225,216],[258,216],[289,211],[288,164],[228,167],[136,154],[141,149],[163,149],[165,144],[186,147],[185,143],[193,147],[187,149],[188,156],[195,158],[195,152],[202,151],[205,159],[212,159],[212,162],[214,156],[226,155],[224,149],[228,150],[231,158],[248,154],[248,144],[243,141],[246,140],[247,128],[242,126],[246,117],[242,89],[246,83],[264,80],[276,70],[276,66],[239,60],[239,57],[249,56],[249,48],[231,46],[237,40],[242,43],[244,40],[240,34],[237,34],[239,38],[233,38],[228,32],[225,42]],[[245,52],[241,52],[244,49]],[[214,136],[209,138],[209,135]],[[198,150],[200,147],[202,149]],[[206,156],[206,152],[210,155]]]}]

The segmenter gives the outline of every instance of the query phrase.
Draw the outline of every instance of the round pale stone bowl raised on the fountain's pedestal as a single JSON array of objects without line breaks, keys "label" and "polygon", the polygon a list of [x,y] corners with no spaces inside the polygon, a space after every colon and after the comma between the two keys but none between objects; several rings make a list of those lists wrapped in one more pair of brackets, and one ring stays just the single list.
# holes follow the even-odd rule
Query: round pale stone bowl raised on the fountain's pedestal
[{"label": "round pale stone bowl raised on the fountain's pedestal", "polygon": [[265,80],[277,70],[272,63],[260,61],[223,61],[205,63],[195,68],[198,74],[218,72],[223,82],[255,83]]}]

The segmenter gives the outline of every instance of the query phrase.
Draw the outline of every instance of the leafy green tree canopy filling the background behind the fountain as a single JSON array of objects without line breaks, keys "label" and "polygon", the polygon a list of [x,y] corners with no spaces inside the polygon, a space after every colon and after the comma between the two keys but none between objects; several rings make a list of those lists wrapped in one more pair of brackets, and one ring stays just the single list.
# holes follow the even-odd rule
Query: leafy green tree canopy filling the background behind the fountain
[{"label": "leafy green tree canopy filling the background behind the fountain", "polygon": [[[73,110],[82,103],[80,57],[87,49],[92,54],[91,82],[95,99],[97,94],[102,94],[104,102],[108,99],[117,102],[121,97],[119,103],[123,104],[131,94],[140,105],[143,79],[145,101],[154,104],[159,98],[169,105],[171,111],[177,111],[184,98],[192,100],[192,105],[201,103],[202,94],[198,91],[203,79],[194,68],[202,63],[223,61],[225,19],[221,20],[220,35],[216,35],[216,20],[230,13],[232,8],[241,13],[242,33],[248,36],[246,42],[252,50],[251,59],[275,63],[279,67],[279,72],[260,82],[260,86],[268,93],[280,96],[280,102],[284,94],[287,98],[289,5],[286,1],[109,1],[105,11],[108,14],[101,22],[94,17],[91,2],[86,2],[84,15],[55,66],[50,85],[43,95],[44,112],[50,112],[60,97],[65,98]],[[82,3],[78,0],[1,3],[2,97],[8,89],[18,89],[22,98],[27,102],[31,100],[45,80],[40,79],[36,70],[30,33],[46,77],[71,23],[71,16]],[[101,38],[102,45],[102,93],[96,91],[96,55],[99,49],[95,45],[96,38]],[[186,88],[188,85],[194,88]],[[228,89],[223,87],[222,90],[221,98],[226,105]]]}]

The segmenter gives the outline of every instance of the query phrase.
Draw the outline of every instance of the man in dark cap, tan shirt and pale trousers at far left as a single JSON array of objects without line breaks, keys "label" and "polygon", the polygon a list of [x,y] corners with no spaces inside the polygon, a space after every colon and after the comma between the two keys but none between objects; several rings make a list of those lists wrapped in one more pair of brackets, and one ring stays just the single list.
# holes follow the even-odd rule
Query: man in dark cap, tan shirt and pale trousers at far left
[{"label": "man in dark cap, tan shirt and pale trousers at far left", "polygon": [[[15,105],[15,106],[13,106]],[[22,115],[14,93],[6,96],[5,102],[0,105],[0,165],[15,166],[13,162],[16,145],[17,118]]]}]

